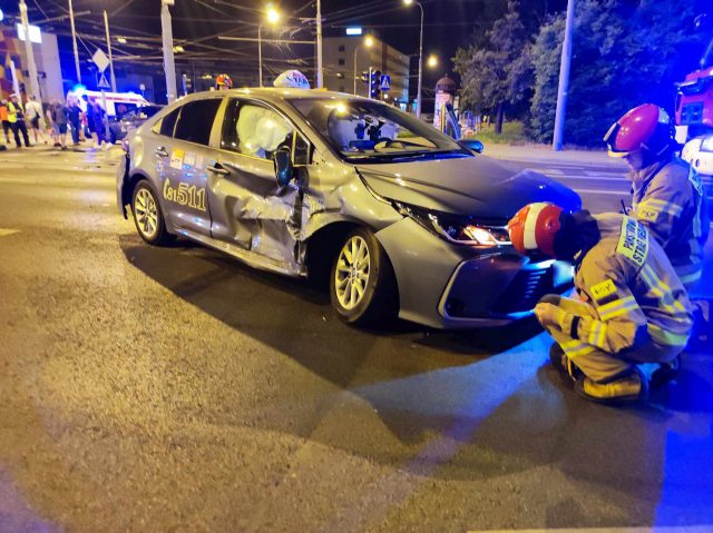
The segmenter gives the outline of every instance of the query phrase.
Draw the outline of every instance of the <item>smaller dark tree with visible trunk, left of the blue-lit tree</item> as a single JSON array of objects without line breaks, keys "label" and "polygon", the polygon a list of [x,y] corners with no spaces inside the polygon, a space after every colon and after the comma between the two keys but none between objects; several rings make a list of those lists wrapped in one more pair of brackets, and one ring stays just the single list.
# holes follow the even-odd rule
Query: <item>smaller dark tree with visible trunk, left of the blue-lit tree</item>
[{"label": "smaller dark tree with visible trunk, left of the blue-lit tree", "polygon": [[[478,40],[473,38],[473,42]],[[478,112],[495,110],[498,135],[502,131],[506,106],[527,100],[531,86],[529,46],[518,2],[510,1],[505,16],[487,32],[485,43],[459,48],[453,58],[461,77],[461,103]]]}]

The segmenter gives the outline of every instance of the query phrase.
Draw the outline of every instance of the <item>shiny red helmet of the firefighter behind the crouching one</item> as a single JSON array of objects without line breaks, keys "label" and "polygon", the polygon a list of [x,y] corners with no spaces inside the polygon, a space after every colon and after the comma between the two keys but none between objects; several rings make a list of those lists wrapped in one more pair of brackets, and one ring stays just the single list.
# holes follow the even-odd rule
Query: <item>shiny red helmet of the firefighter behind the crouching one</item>
[{"label": "shiny red helmet of the firefighter behind the crouching one", "polygon": [[614,122],[604,136],[612,157],[625,157],[637,150],[661,155],[672,139],[671,118],[654,103],[635,107]]}]

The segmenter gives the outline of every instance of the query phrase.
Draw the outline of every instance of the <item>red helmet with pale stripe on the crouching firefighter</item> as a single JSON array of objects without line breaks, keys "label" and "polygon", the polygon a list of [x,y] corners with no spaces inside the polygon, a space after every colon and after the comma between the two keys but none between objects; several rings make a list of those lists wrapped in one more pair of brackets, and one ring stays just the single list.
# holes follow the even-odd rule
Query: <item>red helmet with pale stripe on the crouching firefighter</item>
[{"label": "red helmet with pale stripe on the crouching firefighter", "polygon": [[508,233],[515,249],[522,255],[538,250],[554,257],[555,235],[561,227],[561,207],[546,203],[529,204],[517,211],[508,223]]}]

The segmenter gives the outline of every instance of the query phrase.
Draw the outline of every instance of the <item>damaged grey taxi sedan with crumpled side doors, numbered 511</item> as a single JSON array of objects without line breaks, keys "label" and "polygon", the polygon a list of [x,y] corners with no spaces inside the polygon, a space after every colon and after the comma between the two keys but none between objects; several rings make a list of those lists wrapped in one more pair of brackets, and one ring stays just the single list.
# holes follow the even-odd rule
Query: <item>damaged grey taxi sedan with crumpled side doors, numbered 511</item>
[{"label": "damaged grey taxi sedan with crumpled side doors, numbered 511", "polygon": [[572,279],[566,265],[519,256],[507,220],[531,201],[580,200],[472,148],[365,98],[205,92],[129,135],[118,205],[149,244],[183,236],[322,280],[348,323],[504,325]]}]

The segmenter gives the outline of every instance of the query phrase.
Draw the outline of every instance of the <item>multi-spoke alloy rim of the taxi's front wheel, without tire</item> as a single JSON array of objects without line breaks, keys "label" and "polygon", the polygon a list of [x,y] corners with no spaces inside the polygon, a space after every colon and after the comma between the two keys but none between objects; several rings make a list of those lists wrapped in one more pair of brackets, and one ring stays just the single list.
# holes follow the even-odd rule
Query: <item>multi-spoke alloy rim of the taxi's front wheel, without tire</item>
[{"label": "multi-spoke alloy rim of the taxi's front wheel, without tire", "polygon": [[367,293],[371,273],[371,256],[367,241],[355,235],[350,238],[339,254],[334,273],[334,287],[340,305],[351,310]]}]

